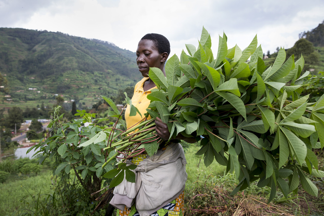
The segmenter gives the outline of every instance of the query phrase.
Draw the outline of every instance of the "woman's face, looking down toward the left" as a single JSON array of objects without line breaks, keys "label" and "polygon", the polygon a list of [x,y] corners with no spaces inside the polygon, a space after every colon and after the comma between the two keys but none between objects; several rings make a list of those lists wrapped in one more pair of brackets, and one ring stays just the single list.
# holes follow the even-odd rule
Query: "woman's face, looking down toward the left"
[{"label": "woman's face, looking down toward the left", "polygon": [[[153,41],[140,40],[136,50],[136,62],[143,77],[148,77],[150,67],[163,69],[162,54],[159,54]],[[161,68],[162,66],[162,68]]]}]

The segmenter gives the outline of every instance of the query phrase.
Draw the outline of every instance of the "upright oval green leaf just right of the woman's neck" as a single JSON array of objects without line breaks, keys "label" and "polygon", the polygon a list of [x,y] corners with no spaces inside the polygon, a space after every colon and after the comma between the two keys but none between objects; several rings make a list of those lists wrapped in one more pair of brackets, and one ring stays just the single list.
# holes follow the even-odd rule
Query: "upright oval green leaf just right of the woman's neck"
[{"label": "upright oval green leaf just right of the woman's neck", "polygon": [[181,75],[179,64],[180,61],[176,54],[169,58],[165,64],[165,75],[169,85],[175,85]]}]

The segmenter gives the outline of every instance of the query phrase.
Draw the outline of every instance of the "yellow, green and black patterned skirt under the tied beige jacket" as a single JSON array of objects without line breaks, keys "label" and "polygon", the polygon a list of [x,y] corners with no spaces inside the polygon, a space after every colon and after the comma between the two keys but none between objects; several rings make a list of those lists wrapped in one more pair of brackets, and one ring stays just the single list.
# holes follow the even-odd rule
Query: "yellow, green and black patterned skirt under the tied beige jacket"
[{"label": "yellow, green and black patterned skirt under the tied beige jacket", "polygon": [[[138,165],[138,163],[144,160],[146,157],[147,154],[135,156],[133,157],[132,162]],[[179,197],[175,198],[161,209],[152,213],[150,216],[182,216],[183,200],[184,191],[179,195]],[[134,204],[130,209],[128,209],[127,206],[125,206],[124,210],[117,210],[117,216],[139,216],[139,213],[137,212]]]}]

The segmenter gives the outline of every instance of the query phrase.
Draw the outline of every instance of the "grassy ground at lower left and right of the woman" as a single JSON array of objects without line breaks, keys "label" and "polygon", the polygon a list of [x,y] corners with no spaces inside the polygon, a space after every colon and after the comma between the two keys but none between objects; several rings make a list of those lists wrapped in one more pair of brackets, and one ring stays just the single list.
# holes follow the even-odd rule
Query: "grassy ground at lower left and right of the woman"
[{"label": "grassy ground at lower left and right of the woman", "polygon": [[[291,195],[288,199],[278,191],[276,197],[268,205],[269,188],[259,188],[254,182],[246,190],[231,196],[230,193],[238,183],[235,175],[226,174],[225,167],[215,161],[205,167],[203,156],[195,155],[199,146],[195,144],[184,146],[188,163],[184,212],[186,216],[317,216],[324,212],[323,178],[311,179],[319,189],[318,198],[307,194],[301,188],[297,195]],[[323,170],[323,152],[318,150],[315,153],[318,156],[319,169]],[[44,200],[44,197],[48,197],[46,194],[53,193],[52,179],[50,170],[31,177],[11,174],[4,184],[0,184],[0,215],[12,214],[18,209],[23,209],[23,203],[32,204],[33,199],[37,200],[39,194],[41,194],[40,200]]]}]

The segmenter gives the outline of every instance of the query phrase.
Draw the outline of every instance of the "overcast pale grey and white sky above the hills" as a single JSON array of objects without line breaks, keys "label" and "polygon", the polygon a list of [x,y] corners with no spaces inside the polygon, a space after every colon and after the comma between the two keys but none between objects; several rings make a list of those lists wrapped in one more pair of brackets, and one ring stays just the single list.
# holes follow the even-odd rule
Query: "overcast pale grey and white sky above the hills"
[{"label": "overcast pale grey and white sky above the hills", "polygon": [[324,20],[323,0],[0,0],[0,27],[60,31],[135,52],[146,33],[168,38],[171,55],[196,47],[203,26],[242,50],[258,35],[263,53],[290,48]]}]

